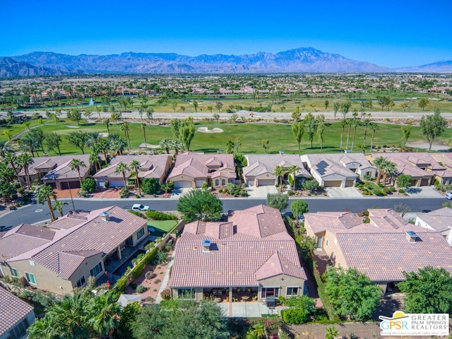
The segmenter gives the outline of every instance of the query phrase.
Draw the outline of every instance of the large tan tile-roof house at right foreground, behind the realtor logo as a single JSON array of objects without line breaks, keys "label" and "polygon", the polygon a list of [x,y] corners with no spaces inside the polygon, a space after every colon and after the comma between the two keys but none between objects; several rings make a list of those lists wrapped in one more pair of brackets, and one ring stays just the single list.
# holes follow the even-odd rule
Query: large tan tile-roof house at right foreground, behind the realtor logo
[{"label": "large tan tile-roof house at right foreground, behind the realtor logo", "polygon": [[369,209],[369,223],[351,212],[304,214],[307,234],[334,266],[357,268],[386,290],[403,272],[426,266],[452,273],[452,248],[439,232],[412,225],[392,209]]}]

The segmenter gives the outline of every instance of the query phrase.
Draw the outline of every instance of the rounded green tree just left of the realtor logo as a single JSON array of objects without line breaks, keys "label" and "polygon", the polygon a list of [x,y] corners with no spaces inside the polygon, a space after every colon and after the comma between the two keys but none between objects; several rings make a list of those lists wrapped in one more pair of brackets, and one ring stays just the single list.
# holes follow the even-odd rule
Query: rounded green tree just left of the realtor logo
[{"label": "rounded green tree just left of the realtor logo", "polygon": [[381,300],[379,285],[355,268],[328,267],[323,278],[326,295],[339,316],[357,321],[370,319]]}]

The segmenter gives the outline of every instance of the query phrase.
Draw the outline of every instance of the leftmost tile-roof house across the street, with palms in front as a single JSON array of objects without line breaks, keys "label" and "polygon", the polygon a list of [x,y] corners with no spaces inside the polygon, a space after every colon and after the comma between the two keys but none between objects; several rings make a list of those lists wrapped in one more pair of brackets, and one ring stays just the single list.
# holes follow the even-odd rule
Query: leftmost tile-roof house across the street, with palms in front
[{"label": "leftmost tile-roof house across the street, with palms in front", "polygon": [[[80,176],[83,179],[90,175],[90,155],[61,155],[54,157],[33,157],[32,164],[28,167],[30,182],[41,179],[44,184],[52,186],[54,189],[67,189],[80,187],[77,169],[72,170],[70,165],[72,160],[79,159],[85,162],[86,167],[80,167]],[[27,186],[25,170],[21,169],[18,174],[20,184]]]}]

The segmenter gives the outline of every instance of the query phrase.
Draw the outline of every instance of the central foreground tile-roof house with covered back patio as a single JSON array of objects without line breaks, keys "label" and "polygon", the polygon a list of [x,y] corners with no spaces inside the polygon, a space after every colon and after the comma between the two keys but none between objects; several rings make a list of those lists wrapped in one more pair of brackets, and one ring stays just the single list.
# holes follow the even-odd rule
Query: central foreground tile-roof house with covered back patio
[{"label": "central foreground tile-roof house with covered back patio", "polygon": [[230,211],[225,222],[191,222],[177,241],[169,287],[202,299],[240,291],[255,299],[302,295],[306,274],[295,241],[275,208]]}]

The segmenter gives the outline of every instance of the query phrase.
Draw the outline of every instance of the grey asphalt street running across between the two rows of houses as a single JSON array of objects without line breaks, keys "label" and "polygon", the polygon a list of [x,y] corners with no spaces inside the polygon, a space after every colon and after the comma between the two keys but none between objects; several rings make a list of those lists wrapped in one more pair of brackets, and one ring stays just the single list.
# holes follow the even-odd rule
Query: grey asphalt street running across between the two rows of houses
[{"label": "grey asphalt street running across between the two rows of houses", "polygon": [[[72,210],[71,200],[64,199],[67,206],[64,206],[64,213]],[[291,200],[292,201],[292,200]],[[411,212],[421,212],[422,210],[435,210],[441,208],[441,204],[446,201],[444,198],[360,198],[360,199],[332,199],[332,198],[306,198],[309,205],[309,212],[317,211],[342,211],[342,210],[352,210],[352,212],[358,212],[359,210],[364,210],[366,208],[393,208],[397,203],[404,203],[410,206]],[[159,200],[102,200],[93,201],[90,199],[74,199],[74,206],[78,210],[95,210],[97,208],[103,208],[107,206],[117,205],[121,208],[131,208],[133,203],[143,203],[144,205],[150,206],[152,210],[176,210],[177,200],[170,199],[159,199]],[[224,199],[223,209],[225,212],[227,210],[241,210],[244,208],[249,208],[251,206],[256,206],[260,203],[265,204],[264,199]],[[57,215],[58,212],[56,211]],[[43,220],[50,219],[49,209],[47,204],[45,205],[27,205],[14,210],[10,213],[5,213],[0,216],[0,226],[17,226],[22,222],[32,224],[35,222],[40,222]]]}]

